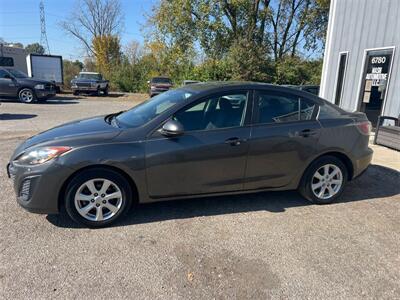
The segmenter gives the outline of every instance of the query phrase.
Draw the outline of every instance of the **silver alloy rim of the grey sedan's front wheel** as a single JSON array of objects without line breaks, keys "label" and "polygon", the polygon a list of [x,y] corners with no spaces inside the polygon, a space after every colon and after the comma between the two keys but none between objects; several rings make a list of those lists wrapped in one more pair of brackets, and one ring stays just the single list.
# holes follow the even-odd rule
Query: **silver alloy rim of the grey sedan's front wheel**
[{"label": "silver alloy rim of the grey sedan's front wheel", "polygon": [[89,221],[105,221],[121,209],[122,192],[118,185],[104,178],[90,179],[75,193],[74,203],[78,213]]}]

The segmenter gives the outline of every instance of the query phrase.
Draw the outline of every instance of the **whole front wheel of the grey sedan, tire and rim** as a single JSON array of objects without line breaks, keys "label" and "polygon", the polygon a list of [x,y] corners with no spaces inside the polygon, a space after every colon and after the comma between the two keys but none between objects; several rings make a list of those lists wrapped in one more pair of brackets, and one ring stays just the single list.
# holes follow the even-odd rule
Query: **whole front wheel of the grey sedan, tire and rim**
[{"label": "whole front wheel of the grey sedan, tire and rim", "polygon": [[88,227],[103,227],[129,210],[132,190],[119,173],[102,168],[79,173],[68,184],[65,207],[69,216]]}]

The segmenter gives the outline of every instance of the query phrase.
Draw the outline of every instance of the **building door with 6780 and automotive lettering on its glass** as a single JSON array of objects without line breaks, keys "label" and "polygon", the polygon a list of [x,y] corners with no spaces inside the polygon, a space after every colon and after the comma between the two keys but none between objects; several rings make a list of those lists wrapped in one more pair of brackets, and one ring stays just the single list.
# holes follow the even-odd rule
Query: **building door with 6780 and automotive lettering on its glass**
[{"label": "building door with 6780 and automotive lettering on its glass", "polygon": [[366,55],[359,110],[365,112],[373,126],[385,103],[392,59],[393,49],[370,50]]}]

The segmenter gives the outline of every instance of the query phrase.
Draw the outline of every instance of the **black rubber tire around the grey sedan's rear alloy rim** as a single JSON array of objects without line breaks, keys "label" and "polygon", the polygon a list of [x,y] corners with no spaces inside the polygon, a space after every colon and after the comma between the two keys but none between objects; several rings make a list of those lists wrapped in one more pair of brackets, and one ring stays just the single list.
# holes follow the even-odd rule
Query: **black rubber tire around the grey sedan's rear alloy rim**
[{"label": "black rubber tire around the grey sedan's rear alloy rim", "polygon": [[[316,174],[316,172],[318,170],[320,170],[323,166],[325,165],[332,165],[332,166],[336,166],[337,168],[340,169],[341,174],[342,174],[342,183],[340,185],[340,188],[337,188],[337,190],[335,190],[335,194],[333,194],[333,196],[330,196],[329,198],[324,199],[323,196],[322,197],[318,197],[318,195],[316,195],[313,192],[312,189],[312,184],[315,183],[315,180],[318,180],[314,177],[314,174]],[[332,170],[332,168],[330,168],[330,170]],[[324,176],[322,176],[324,177]],[[307,200],[310,200],[311,202],[315,203],[315,204],[329,204],[334,202],[337,198],[339,198],[342,193],[343,190],[346,186],[347,183],[347,179],[348,179],[348,171],[347,168],[345,166],[345,164],[337,157],[334,156],[322,156],[318,159],[316,159],[315,161],[313,161],[311,163],[311,165],[307,168],[307,170],[304,172],[303,177],[301,179],[300,185],[299,185],[299,192],[300,194],[306,198]],[[323,183],[326,185],[329,185],[330,187],[330,182],[327,181],[326,178],[324,178]],[[318,182],[317,182],[318,183]],[[332,185],[333,189],[336,189],[336,186]],[[321,189],[324,187],[321,187]],[[326,187],[328,188],[328,187]],[[317,189],[317,191],[321,191],[321,189]],[[328,191],[329,193],[329,191]]]}]

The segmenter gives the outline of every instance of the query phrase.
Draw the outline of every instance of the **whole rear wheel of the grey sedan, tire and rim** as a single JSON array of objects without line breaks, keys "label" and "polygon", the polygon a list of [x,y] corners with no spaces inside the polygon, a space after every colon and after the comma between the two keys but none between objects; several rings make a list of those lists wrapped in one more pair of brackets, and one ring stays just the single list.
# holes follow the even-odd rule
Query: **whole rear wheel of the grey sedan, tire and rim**
[{"label": "whole rear wheel of the grey sedan, tire and rim", "polygon": [[347,168],[334,156],[323,156],[307,169],[299,191],[306,199],[317,204],[334,202],[343,193],[347,183]]}]

